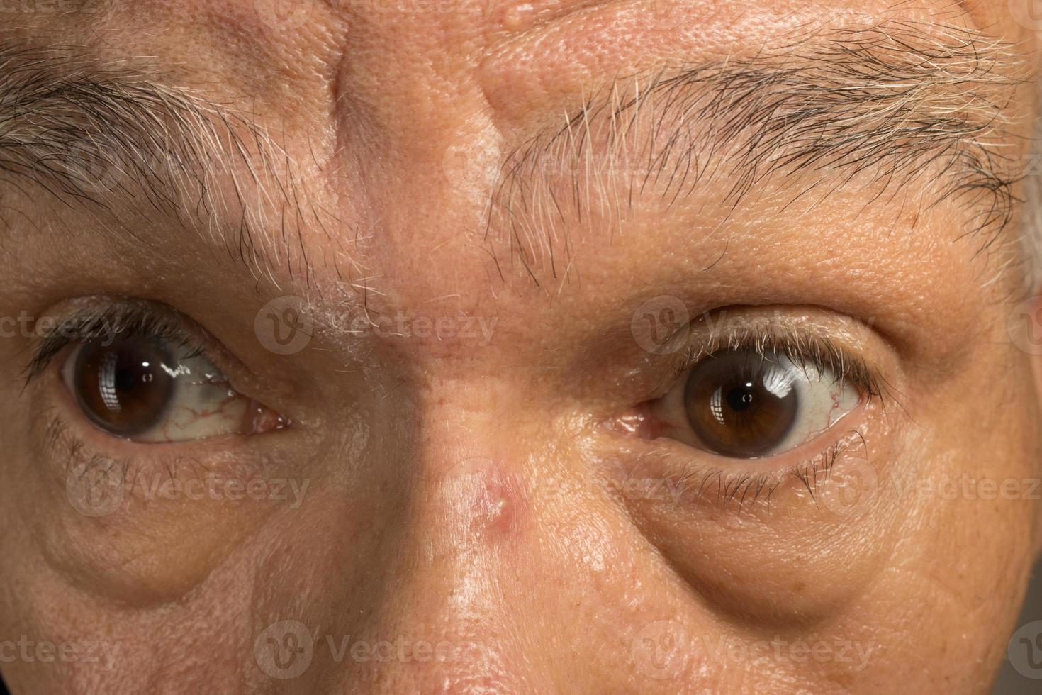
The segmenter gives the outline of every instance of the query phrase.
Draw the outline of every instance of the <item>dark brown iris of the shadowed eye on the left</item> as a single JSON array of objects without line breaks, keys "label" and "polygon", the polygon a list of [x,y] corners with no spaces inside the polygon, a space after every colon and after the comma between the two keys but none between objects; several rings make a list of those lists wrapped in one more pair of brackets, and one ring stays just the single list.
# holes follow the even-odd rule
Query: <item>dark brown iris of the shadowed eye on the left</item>
[{"label": "dark brown iris of the shadowed eye on the left", "polygon": [[118,340],[79,349],[73,392],[94,424],[120,437],[147,431],[164,417],[174,390],[170,353],[151,340]]}]

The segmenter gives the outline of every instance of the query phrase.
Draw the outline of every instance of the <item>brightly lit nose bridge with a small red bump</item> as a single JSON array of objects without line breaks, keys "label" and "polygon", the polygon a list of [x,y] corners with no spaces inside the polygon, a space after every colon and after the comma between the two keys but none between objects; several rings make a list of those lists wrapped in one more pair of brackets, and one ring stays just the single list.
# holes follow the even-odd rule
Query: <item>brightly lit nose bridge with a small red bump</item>
[{"label": "brightly lit nose bridge with a small red bump", "polygon": [[522,577],[539,564],[524,454],[501,444],[495,408],[463,406],[467,390],[452,391],[419,405],[407,503],[367,630],[427,657],[373,665],[376,692],[550,692],[532,668],[545,663],[540,640],[521,629]]}]

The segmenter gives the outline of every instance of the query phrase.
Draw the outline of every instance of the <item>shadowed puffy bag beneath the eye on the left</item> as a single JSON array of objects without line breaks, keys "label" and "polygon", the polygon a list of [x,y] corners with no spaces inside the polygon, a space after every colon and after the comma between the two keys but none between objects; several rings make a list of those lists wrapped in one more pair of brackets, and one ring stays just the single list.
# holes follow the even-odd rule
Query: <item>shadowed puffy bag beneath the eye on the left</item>
[{"label": "shadowed puffy bag beneath the eye on the left", "polygon": [[[100,598],[138,609],[179,600],[288,503],[275,499],[276,491],[287,488],[275,482],[259,493],[254,487],[247,496],[249,481],[267,478],[237,466],[230,455],[212,453],[205,465],[182,461],[173,475],[150,464],[92,464],[71,454],[72,429],[100,439],[88,427],[70,425],[48,450],[30,453],[42,466],[29,482],[35,503],[24,510],[24,518],[49,566]],[[207,477],[208,471],[222,477]],[[227,487],[228,479],[244,481],[242,491]]]}]

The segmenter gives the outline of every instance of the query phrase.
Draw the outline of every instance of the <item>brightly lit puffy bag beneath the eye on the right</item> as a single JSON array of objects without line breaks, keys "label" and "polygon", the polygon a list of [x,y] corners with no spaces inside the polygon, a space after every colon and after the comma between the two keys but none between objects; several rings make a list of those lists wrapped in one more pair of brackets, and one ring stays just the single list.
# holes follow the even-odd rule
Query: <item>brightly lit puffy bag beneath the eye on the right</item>
[{"label": "brightly lit puffy bag beneath the eye on the right", "polygon": [[901,510],[875,488],[844,503],[837,482],[862,479],[869,466],[886,470],[894,461],[886,441],[878,432],[865,438],[870,464],[860,441],[839,453],[828,477],[819,474],[813,485],[814,496],[790,475],[769,501],[746,501],[741,511],[716,501],[712,490],[699,498],[698,480],[676,499],[624,500],[706,607],[751,628],[805,631],[842,613],[890,561]]}]

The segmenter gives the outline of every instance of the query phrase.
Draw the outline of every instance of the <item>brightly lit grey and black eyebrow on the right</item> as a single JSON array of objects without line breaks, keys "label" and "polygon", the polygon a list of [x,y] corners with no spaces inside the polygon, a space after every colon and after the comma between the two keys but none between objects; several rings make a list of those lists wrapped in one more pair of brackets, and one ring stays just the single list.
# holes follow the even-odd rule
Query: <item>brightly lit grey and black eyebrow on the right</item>
[{"label": "brightly lit grey and black eyebrow on the right", "polygon": [[499,241],[511,260],[532,279],[535,266],[549,265],[564,284],[572,268],[564,223],[596,213],[619,233],[643,195],[672,205],[722,178],[733,213],[764,190],[792,189],[795,201],[857,179],[872,187],[874,202],[927,182],[926,204],[958,198],[970,210],[966,235],[982,239],[976,253],[1001,250],[1006,267],[1018,258],[996,242],[1013,218],[1023,162],[1002,143],[1026,75],[1014,45],[888,21],[621,77],[507,157],[486,238],[507,237]]}]

